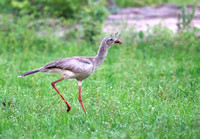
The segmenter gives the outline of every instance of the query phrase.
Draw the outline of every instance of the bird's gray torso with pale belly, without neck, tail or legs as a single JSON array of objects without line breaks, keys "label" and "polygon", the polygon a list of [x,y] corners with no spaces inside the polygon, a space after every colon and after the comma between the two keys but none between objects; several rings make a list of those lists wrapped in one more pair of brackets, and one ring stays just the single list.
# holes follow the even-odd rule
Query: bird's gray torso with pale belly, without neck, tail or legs
[{"label": "bird's gray torso with pale belly, without neck, tail or legs", "polygon": [[78,56],[59,59],[45,65],[41,72],[58,73],[68,79],[76,78],[77,80],[83,80],[94,71],[94,61],[94,57]]}]

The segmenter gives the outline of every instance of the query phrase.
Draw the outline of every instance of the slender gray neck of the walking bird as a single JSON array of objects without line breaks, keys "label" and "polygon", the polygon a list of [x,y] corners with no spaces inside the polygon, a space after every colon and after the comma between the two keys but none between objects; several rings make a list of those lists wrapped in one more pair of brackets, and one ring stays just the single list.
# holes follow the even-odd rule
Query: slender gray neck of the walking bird
[{"label": "slender gray neck of the walking bird", "polygon": [[100,45],[98,53],[95,57],[95,63],[96,63],[97,67],[100,66],[103,63],[107,53],[108,53],[108,47],[105,43],[102,43]]}]

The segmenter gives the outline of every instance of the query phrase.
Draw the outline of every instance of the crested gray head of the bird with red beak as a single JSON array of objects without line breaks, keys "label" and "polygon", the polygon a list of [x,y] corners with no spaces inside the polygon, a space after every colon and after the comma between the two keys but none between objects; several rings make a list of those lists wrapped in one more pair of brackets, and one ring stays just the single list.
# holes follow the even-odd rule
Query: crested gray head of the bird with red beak
[{"label": "crested gray head of the bird with red beak", "polygon": [[120,37],[120,34],[118,34],[117,32],[114,35],[110,35],[109,37],[104,38],[103,42],[109,47],[115,43],[122,44],[122,42],[119,40],[119,37]]}]

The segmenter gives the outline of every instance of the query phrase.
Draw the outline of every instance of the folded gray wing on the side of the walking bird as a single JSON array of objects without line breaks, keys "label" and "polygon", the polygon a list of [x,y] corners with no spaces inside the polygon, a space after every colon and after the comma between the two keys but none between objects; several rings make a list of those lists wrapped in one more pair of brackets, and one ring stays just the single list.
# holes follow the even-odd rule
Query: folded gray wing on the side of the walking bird
[{"label": "folded gray wing on the side of the walking bird", "polygon": [[85,57],[71,57],[50,62],[44,68],[59,68],[80,73],[92,70],[93,63]]}]

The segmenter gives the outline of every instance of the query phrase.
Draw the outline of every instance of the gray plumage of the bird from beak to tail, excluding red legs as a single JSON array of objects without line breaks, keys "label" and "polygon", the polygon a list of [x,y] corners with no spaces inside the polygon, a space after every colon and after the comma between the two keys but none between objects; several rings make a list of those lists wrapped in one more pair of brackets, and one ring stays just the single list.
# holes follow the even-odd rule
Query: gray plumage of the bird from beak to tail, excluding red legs
[{"label": "gray plumage of the bird from beak to tail, excluding red legs", "polygon": [[104,61],[108,49],[114,43],[121,43],[115,37],[106,37],[102,40],[98,54],[95,57],[70,57],[52,61],[44,67],[19,75],[23,77],[36,72],[57,73],[66,79],[75,78],[79,81],[89,77]]}]

